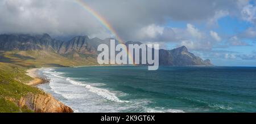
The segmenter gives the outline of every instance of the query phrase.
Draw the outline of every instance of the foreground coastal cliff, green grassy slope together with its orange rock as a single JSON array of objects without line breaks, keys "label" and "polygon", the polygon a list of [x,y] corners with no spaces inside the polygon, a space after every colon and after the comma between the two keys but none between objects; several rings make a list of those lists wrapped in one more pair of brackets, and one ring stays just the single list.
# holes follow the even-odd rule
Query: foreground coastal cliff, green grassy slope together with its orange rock
[{"label": "foreground coastal cliff, green grassy slope together with its orange rock", "polygon": [[[27,75],[27,68],[0,62],[0,113],[72,113],[69,106],[33,87],[38,80]],[[32,82],[34,80],[34,82]],[[42,80],[43,81],[43,80]],[[29,85],[31,84],[31,85]]]}]

